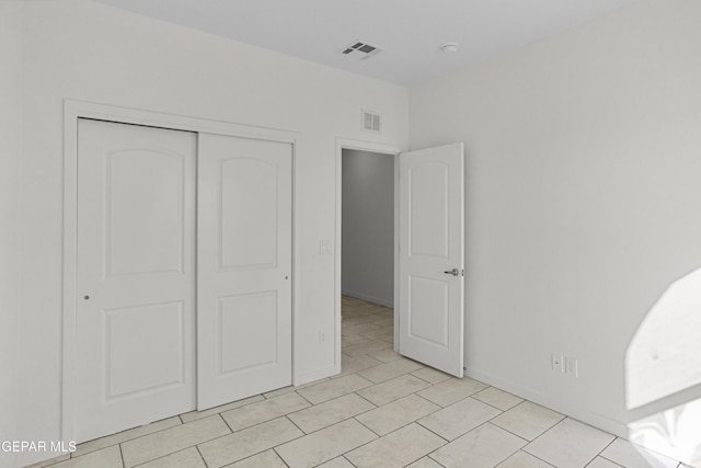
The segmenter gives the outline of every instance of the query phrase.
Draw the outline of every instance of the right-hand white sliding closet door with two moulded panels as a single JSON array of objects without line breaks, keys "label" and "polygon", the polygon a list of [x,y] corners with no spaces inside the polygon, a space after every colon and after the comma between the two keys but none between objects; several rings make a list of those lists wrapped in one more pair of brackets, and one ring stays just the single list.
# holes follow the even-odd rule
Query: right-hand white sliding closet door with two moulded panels
[{"label": "right-hand white sliding closet door with two moulded panels", "polygon": [[292,146],[199,135],[197,408],[291,384]]}]

